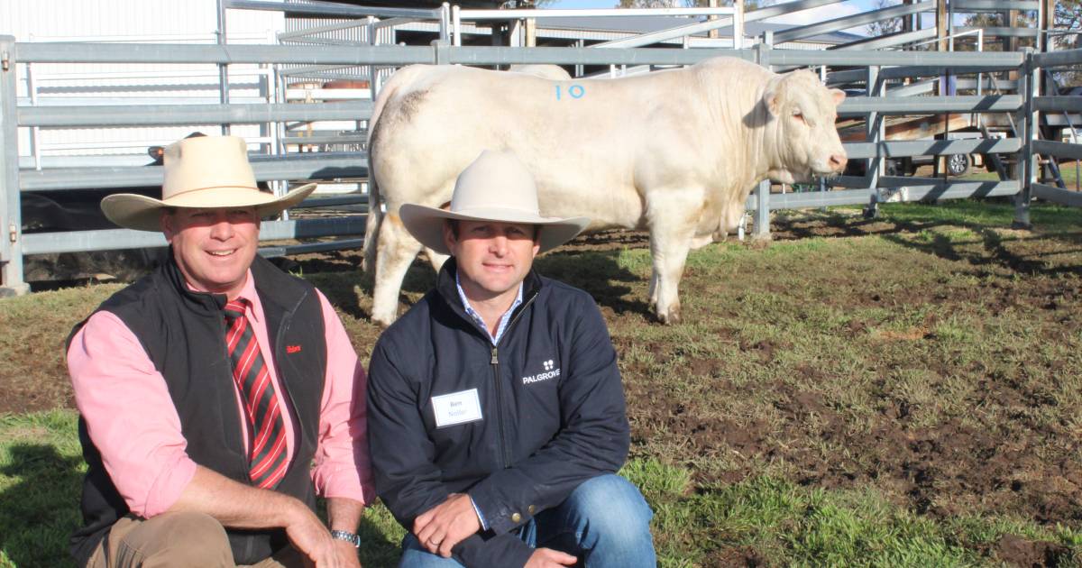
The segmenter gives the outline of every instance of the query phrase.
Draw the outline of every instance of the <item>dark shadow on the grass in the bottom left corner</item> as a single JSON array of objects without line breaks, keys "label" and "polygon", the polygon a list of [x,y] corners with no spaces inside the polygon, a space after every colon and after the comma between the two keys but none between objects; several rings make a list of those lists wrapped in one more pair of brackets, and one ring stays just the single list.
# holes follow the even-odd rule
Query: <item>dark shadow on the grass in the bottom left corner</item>
[{"label": "dark shadow on the grass in the bottom left corner", "polygon": [[19,481],[0,493],[0,550],[15,566],[74,566],[68,537],[80,525],[82,460],[43,444],[15,444],[0,470]]}]

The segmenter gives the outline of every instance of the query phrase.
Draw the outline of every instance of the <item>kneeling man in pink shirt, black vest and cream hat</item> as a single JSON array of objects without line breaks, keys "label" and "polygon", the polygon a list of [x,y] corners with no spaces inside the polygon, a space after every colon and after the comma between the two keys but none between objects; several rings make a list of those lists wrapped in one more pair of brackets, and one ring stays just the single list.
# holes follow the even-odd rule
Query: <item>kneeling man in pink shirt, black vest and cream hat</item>
[{"label": "kneeling man in pink shirt, black vest and cream hat", "polygon": [[359,566],[364,370],[327,299],[256,255],[260,219],[314,186],[260,191],[245,141],[208,136],[166,149],[162,199],[102,201],[170,254],[68,340],[80,565]]}]

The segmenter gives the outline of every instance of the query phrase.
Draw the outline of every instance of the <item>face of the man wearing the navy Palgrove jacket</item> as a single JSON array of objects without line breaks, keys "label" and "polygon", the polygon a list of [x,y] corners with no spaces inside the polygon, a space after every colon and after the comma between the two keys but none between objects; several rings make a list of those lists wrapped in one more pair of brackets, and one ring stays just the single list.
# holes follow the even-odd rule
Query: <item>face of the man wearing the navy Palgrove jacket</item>
[{"label": "face of the man wearing the navy Palgrove jacket", "polygon": [[518,295],[518,283],[541,248],[533,225],[496,221],[459,221],[456,236],[444,224],[444,243],[459,267],[466,298],[476,302],[507,301]]}]

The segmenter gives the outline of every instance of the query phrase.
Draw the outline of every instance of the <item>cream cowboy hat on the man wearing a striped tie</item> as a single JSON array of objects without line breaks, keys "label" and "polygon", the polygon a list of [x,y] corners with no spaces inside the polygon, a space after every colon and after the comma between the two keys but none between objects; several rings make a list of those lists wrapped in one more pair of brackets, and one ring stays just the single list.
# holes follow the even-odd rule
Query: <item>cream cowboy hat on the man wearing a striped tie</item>
[{"label": "cream cowboy hat on the man wearing a striped tie", "polygon": [[261,191],[248,163],[248,146],[237,136],[198,136],[166,147],[166,174],[160,200],[137,194],[116,194],[102,199],[102,212],[121,227],[161,230],[158,219],[167,207],[255,207],[260,217],[289,209],[308,196],[307,184],[275,197]]}]

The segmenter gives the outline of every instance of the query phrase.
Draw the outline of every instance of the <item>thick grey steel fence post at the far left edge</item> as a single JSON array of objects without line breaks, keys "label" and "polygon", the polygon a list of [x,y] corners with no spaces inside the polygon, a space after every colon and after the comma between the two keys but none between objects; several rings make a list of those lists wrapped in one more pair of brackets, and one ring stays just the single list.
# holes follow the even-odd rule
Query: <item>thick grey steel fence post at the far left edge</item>
[{"label": "thick grey steel fence post at the far left edge", "polygon": [[18,186],[15,38],[0,36],[0,296],[25,294]]}]

